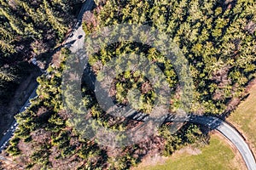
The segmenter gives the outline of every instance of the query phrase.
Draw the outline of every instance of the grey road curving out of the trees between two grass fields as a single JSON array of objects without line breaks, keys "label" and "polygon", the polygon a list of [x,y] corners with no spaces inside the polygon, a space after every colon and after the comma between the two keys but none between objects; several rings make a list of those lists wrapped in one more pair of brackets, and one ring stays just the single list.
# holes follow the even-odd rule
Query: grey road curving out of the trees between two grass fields
[{"label": "grey road curving out of the trees between two grass fields", "polygon": [[[137,111],[127,111],[128,114],[125,117],[144,122],[147,121],[148,115],[143,113],[137,113]],[[212,130],[217,130],[219,133],[222,133],[226,139],[229,139],[232,144],[236,146],[236,149],[239,150],[243,160],[246,163],[247,169],[256,170],[255,157],[253,156],[252,150],[250,150],[245,139],[241,134],[236,130],[235,127],[230,126],[228,122],[224,122],[222,119],[219,119],[216,116],[198,116],[198,115],[188,115],[185,117],[175,117],[173,115],[162,116],[157,119],[159,122],[193,122],[197,124],[204,125],[209,127]]]}]

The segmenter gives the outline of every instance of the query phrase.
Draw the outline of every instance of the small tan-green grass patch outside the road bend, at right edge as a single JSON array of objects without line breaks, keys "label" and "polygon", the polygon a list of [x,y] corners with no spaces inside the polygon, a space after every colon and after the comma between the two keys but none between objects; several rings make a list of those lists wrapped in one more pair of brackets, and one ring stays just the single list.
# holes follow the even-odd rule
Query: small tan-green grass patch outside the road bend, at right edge
[{"label": "small tan-green grass patch outside the road bend, at right edge", "polygon": [[256,155],[256,84],[249,91],[247,99],[227,119],[234,124],[247,139]]}]

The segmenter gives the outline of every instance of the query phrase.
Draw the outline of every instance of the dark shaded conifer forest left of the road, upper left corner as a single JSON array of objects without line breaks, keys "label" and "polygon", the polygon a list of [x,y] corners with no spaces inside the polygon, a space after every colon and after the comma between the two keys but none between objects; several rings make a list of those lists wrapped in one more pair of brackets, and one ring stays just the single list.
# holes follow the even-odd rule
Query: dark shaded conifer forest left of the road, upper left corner
[{"label": "dark shaded conifer forest left of the road, upper left corner", "polygon": [[33,71],[28,60],[44,63],[73,26],[79,1],[0,1],[0,103]]}]

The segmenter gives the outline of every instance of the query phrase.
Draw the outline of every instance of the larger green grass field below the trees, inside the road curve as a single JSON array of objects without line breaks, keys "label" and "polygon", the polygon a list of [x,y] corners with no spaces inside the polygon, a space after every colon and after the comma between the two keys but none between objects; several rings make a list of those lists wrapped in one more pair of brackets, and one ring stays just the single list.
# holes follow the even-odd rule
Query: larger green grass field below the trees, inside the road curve
[{"label": "larger green grass field below the trees, inside the road curve", "polygon": [[201,154],[189,155],[187,152],[177,152],[163,164],[155,166],[142,164],[134,168],[134,170],[230,170],[244,168],[243,161],[239,156],[236,156],[236,154],[230,148],[230,145],[225,142],[225,139],[214,134],[210,139],[210,144],[201,149]]}]

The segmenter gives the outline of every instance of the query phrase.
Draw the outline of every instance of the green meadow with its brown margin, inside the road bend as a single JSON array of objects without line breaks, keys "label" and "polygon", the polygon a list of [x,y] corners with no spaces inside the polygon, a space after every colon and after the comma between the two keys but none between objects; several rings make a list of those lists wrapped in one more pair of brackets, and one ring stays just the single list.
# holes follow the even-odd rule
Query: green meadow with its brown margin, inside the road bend
[{"label": "green meadow with its brown margin, inside the road bend", "polygon": [[197,149],[186,146],[172,156],[146,157],[133,170],[169,169],[247,169],[236,147],[219,133],[212,133],[210,144]]}]

